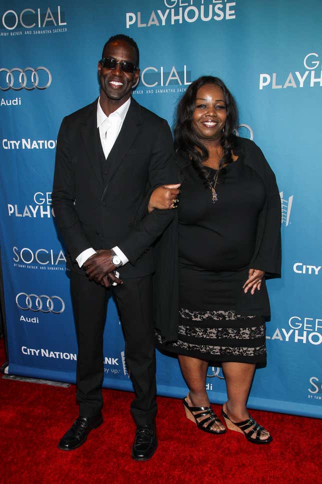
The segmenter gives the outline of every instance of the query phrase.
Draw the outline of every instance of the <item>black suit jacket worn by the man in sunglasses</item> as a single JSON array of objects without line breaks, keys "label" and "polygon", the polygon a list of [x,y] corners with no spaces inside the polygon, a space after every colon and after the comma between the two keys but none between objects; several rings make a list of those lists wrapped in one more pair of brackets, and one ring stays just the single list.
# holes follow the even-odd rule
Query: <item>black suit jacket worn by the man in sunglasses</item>
[{"label": "black suit jacket worn by the man in sunglasses", "polygon": [[56,222],[72,270],[84,273],[75,258],[86,248],[118,245],[129,259],[120,276],[141,277],[153,272],[151,244],[173,217],[171,210],[146,210],[152,190],[177,179],[171,131],[131,98],[103,181],[96,112],[97,99],[61,123],[52,191]]}]

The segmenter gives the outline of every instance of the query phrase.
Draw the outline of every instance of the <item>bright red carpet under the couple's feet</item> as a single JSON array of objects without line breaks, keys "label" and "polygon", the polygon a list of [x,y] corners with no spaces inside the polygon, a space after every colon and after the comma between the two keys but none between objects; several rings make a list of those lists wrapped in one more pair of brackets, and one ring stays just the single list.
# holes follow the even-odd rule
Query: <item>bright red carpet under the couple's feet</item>
[{"label": "bright red carpet under the couple's feet", "polygon": [[[0,364],[3,360],[1,340]],[[57,442],[77,416],[75,387],[0,377],[1,484],[321,482],[321,420],[253,410],[274,436],[270,445],[260,446],[237,432],[201,432],[185,417],[180,400],[158,397],[159,447],[151,460],[136,462],[130,456],[132,394],[106,389],[103,394],[103,425],[66,452]]]}]

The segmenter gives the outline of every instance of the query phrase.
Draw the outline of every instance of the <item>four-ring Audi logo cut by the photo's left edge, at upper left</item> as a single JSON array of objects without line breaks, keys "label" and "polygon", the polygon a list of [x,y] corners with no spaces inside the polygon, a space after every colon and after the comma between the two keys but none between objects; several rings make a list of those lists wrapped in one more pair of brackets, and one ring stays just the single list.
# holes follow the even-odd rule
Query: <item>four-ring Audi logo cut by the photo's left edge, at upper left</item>
[{"label": "four-ring Audi logo cut by the photo's left edge, at upper left", "polygon": [[[48,76],[47,83],[41,82],[41,84],[44,84],[44,85],[39,85],[38,72],[40,70],[44,71],[46,73],[46,76]],[[32,67],[26,67],[25,69],[20,69],[19,67],[13,67],[13,69],[5,69],[4,67],[2,67],[0,68],[0,72],[1,71],[6,72],[6,76],[5,76],[6,85],[3,86],[0,84],[1,90],[8,90],[10,88],[13,90],[20,90],[20,89],[32,90],[35,87],[37,89],[47,89],[47,87],[49,87],[51,84],[51,73],[47,69],[47,67],[36,67],[35,69],[33,69]],[[19,75],[14,74],[14,72],[19,72]],[[29,74],[29,72],[31,72],[31,74]],[[31,86],[27,86],[28,77],[30,77],[30,81],[32,84]],[[3,83],[3,80],[1,82]]]}]

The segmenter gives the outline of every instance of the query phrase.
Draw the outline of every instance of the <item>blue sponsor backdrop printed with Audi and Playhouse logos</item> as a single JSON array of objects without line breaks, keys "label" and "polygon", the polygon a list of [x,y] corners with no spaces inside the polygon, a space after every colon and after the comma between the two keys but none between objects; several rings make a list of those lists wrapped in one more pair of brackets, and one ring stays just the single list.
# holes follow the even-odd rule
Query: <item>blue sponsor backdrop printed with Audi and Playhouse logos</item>
[{"label": "blue sponsor backdrop printed with Audi and Playhouse logos", "polygon": [[[75,381],[77,344],[51,187],[64,115],[97,97],[110,35],[138,43],[135,99],[173,125],[178,99],[203,74],[221,77],[277,175],[283,277],[268,281],[268,364],[249,406],[322,416],[322,3],[311,0],[6,1],[0,7],[0,248],[9,374]],[[3,3],[2,3],[3,5]],[[131,389],[113,302],[104,386]],[[158,353],[158,393],[182,397],[178,361]],[[209,367],[214,402],[226,399]]]}]

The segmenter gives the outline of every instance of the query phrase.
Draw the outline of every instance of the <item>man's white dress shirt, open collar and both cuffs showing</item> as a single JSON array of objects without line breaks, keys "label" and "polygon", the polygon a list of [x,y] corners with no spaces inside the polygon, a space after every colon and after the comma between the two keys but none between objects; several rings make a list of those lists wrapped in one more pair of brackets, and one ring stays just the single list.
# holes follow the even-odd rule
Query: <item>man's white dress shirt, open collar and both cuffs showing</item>
[{"label": "man's white dress shirt, open collar and both cuffs showing", "polygon": [[[98,98],[97,102],[97,127],[99,129],[99,137],[101,139],[104,155],[105,158],[107,158],[112,147],[114,146],[117,136],[119,135],[125,116],[130,107],[131,98],[124,102],[124,104],[116,109],[116,111],[111,112],[109,116],[106,116],[105,112],[101,108],[99,99],[100,97]],[[129,259],[118,246],[113,247],[113,250],[120,257],[122,265],[129,261]],[[96,250],[94,250],[92,247],[89,247],[77,255],[76,260],[79,267],[81,267],[83,263],[95,253]]]}]

